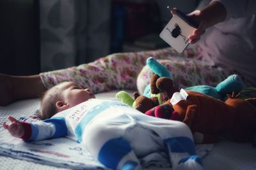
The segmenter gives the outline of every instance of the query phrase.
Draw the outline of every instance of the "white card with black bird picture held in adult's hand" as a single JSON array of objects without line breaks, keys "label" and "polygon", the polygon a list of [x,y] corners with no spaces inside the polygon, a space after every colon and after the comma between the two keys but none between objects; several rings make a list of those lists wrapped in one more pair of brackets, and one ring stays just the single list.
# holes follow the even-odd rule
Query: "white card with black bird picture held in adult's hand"
[{"label": "white card with black bird picture held in adult's hand", "polygon": [[176,10],[176,14],[166,24],[159,36],[173,49],[181,53],[188,47],[188,36],[193,33],[196,27],[198,24],[195,21],[189,19],[180,10]]}]

